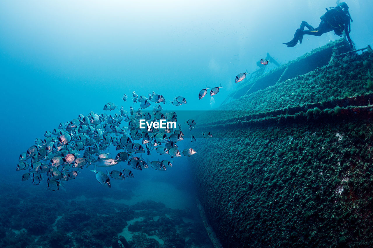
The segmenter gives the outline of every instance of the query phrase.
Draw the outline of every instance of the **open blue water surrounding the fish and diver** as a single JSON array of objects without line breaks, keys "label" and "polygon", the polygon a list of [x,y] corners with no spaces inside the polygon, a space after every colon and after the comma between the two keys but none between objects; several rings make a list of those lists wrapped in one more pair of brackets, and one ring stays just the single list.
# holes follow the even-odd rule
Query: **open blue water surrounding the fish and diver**
[{"label": "open blue water surrounding the fish and diver", "polygon": [[[372,45],[372,1],[347,3],[356,47]],[[15,170],[18,156],[60,122],[90,111],[103,113],[107,102],[129,108],[133,90],[139,96],[154,91],[168,100],[184,96],[188,103],[178,110],[217,107],[236,89],[235,76],[257,70],[267,52],[284,64],[338,39],[329,32],[305,36],[294,48],[282,44],[302,20],[316,27],[325,7],[335,5],[320,0],[1,1],[1,184],[11,185],[15,197],[21,189],[42,202],[50,195],[73,192],[75,197],[86,190],[113,197],[117,193],[98,184],[88,170],[62,193],[45,193],[44,185],[21,182],[22,173]],[[198,100],[206,84],[224,88]],[[123,93],[129,102],[122,101]],[[125,185],[134,194],[145,191],[144,185],[161,185],[158,195],[144,193],[141,200],[192,208],[192,174],[187,160],[180,161],[166,172],[140,171]],[[113,188],[123,190],[119,183]],[[185,197],[167,201],[178,193]]]}]

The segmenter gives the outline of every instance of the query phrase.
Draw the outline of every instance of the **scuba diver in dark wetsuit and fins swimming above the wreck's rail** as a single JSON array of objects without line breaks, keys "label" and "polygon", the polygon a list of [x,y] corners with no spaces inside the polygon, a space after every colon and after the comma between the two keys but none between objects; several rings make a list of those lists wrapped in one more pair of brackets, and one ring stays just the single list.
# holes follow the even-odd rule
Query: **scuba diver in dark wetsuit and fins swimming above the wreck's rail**
[{"label": "scuba diver in dark wetsuit and fins swimming above the wreck's rail", "polygon": [[[307,22],[303,21],[300,28],[294,34],[294,38],[287,42],[282,43],[288,47],[294,47],[300,41],[302,44],[303,35],[314,35],[321,36],[330,31],[334,31],[336,35],[342,36],[342,32],[345,31],[348,42],[350,42],[351,48],[354,46],[354,42],[351,41],[350,32],[351,32],[351,15],[348,12],[348,6],[345,2],[339,3],[335,8],[330,7],[326,9],[326,13],[320,17],[321,22],[317,28],[309,25]],[[307,27],[309,30],[304,30]]]}]

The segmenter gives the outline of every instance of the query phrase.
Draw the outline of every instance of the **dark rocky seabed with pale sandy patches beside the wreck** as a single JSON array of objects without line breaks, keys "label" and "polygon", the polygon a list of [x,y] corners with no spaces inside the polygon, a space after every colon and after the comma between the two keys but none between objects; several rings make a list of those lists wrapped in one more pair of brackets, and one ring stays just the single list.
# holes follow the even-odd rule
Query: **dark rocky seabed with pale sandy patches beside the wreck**
[{"label": "dark rocky seabed with pale sandy patches beside the wreck", "polygon": [[1,248],[213,247],[200,216],[191,210],[154,201],[126,205],[97,195],[47,198],[4,184],[0,190]]}]

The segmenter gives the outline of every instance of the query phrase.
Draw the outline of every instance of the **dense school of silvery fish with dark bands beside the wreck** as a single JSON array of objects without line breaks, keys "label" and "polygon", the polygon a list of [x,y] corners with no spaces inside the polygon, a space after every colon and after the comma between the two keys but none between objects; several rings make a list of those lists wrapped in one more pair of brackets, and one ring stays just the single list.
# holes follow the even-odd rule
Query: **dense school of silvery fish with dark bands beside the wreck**
[{"label": "dense school of silvery fish with dark bands beside the wreck", "polygon": [[[207,88],[207,87],[206,87]],[[211,89],[211,96],[219,92],[221,86]],[[207,90],[207,89],[205,89]],[[205,93],[206,95],[206,93]],[[203,96],[202,96],[203,97]],[[127,101],[127,95],[122,97]],[[146,161],[142,155],[150,155],[151,152],[160,155],[169,155],[170,158],[192,156],[196,151],[192,148],[178,150],[178,142],[184,140],[181,124],[176,128],[140,128],[140,119],[149,121],[175,121],[176,112],[162,112],[160,103],[166,103],[162,95],[150,93],[148,98],[138,96],[132,92],[133,104],[139,102],[140,108],[134,111],[133,106],[129,111],[121,106],[118,108],[114,103],[108,102],[104,105],[104,111],[117,111],[116,114],[96,114],[90,112],[88,115],[80,114],[76,119],[60,123],[58,128],[44,133],[44,139],[37,138],[35,144],[30,146],[26,152],[19,155],[19,163],[16,171],[27,171],[22,175],[22,181],[30,180],[33,185],[39,185],[46,181],[47,189],[59,190],[60,186],[78,177],[82,169],[93,165],[91,170],[100,184],[110,188],[111,180],[125,180],[133,178],[131,169],[142,170],[149,166],[159,171],[165,171],[172,167],[172,160]],[[186,99],[177,96],[172,105],[186,104]],[[144,111],[151,103],[157,104],[153,111]],[[186,120],[192,130],[197,124],[195,120]],[[204,138],[213,137],[210,132],[202,134]],[[191,142],[196,139],[192,135]],[[110,158],[108,151],[110,147],[116,147],[117,155]],[[125,163],[126,162],[126,163]],[[129,168],[122,168],[122,165]],[[119,166],[118,166],[119,165]],[[111,166],[120,169],[107,171]],[[98,170],[105,169],[104,171]],[[44,176],[45,175],[45,176]]]}]

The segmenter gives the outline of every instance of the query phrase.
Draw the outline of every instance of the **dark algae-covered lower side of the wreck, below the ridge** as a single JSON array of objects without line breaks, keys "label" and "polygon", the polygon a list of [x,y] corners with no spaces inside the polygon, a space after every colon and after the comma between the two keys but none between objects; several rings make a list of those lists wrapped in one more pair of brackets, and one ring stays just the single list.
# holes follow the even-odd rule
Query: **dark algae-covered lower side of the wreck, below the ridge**
[{"label": "dark algae-covered lower side of the wreck, below the ridge", "polygon": [[223,247],[373,246],[370,120],[222,132],[191,158]]}]

